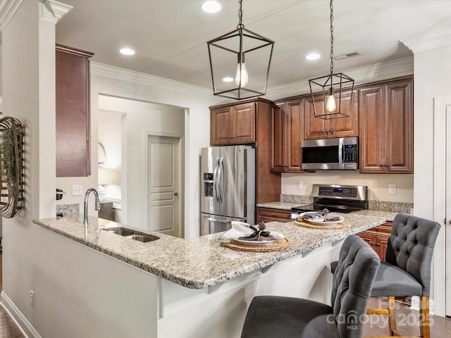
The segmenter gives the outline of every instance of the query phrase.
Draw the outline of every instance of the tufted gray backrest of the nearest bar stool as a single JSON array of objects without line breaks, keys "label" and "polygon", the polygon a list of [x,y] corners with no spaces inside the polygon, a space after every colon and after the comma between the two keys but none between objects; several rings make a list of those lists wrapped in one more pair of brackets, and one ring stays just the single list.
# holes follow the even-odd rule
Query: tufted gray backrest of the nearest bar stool
[{"label": "tufted gray backrest of the nearest bar stool", "polygon": [[333,275],[331,305],[340,338],[363,337],[366,305],[381,260],[353,234],[343,242]]}]

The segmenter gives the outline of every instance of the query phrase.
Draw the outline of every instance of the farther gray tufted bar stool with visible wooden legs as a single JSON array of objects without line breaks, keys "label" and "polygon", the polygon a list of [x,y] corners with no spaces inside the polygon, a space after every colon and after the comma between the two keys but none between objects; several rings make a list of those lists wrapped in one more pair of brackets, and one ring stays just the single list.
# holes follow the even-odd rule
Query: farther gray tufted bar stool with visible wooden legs
[{"label": "farther gray tufted bar stool with visible wooden legs", "polygon": [[393,220],[385,262],[381,262],[371,297],[388,297],[388,308],[369,308],[368,315],[389,315],[390,336],[397,332],[395,297],[420,297],[420,336],[431,337],[429,295],[431,261],[440,224],[398,213]]}]

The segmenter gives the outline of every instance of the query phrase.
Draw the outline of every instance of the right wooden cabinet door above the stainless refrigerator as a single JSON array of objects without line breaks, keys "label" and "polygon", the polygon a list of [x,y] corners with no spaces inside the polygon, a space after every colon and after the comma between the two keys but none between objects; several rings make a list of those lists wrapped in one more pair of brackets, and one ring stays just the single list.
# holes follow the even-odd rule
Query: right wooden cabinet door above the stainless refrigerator
[{"label": "right wooden cabinet door above the stainless refrigerator", "polygon": [[232,107],[233,143],[255,142],[255,104],[240,104]]}]

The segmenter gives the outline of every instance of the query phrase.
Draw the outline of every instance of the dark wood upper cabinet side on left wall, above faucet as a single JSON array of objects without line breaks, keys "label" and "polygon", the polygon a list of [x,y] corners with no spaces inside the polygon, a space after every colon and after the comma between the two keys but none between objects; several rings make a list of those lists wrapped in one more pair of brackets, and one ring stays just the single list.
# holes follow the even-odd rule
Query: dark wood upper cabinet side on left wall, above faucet
[{"label": "dark wood upper cabinet side on left wall, above faucet", "polygon": [[93,55],[56,45],[56,177],[91,173],[89,58]]}]

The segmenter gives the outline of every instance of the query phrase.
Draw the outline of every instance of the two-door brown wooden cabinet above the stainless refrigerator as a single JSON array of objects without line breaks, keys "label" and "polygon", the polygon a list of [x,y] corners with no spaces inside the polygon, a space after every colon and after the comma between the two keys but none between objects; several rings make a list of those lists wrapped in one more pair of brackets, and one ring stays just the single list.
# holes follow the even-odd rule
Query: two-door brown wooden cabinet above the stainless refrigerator
[{"label": "two-door brown wooden cabinet above the stainless refrigerator", "polygon": [[249,144],[255,142],[255,104],[213,109],[210,112],[210,144]]}]

